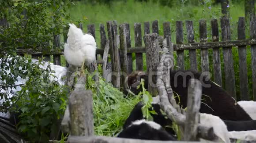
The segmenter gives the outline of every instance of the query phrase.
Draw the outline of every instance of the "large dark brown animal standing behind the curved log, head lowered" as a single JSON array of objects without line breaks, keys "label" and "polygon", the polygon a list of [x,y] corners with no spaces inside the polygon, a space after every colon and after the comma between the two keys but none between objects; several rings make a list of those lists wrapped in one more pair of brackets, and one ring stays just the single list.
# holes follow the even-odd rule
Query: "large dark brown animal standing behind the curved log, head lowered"
[{"label": "large dark brown animal standing behind the curved log, head lowered", "polygon": [[[136,73],[136,72],[135,72]],[[177,103],[185,108],[187,107],[188,98],[188,83],[189,80],[194,76],[195,79],[199,79],[203,85],[210,85],[210,87],[202,86],[202,104],[200,108],[201,113],[213,114],[220,117],[222,120],[230,121],[247,121],[252,120],[245,110],[236,103],[236,101],[220,86],[216,85],[211,80],[207,79],[206,76],[200,78],[200,72],[193,71],[171,71],[170,81],[174,93],[177,93],[180,98],[176,98]],[[147,75],[138,76],[131,74],[128,76],[128,86],[131,87],[136,82],[135,79],[145,79],[145,85],[147,89],[148,77]],[[183,80],[184,79],[184,80]],[[176,82],[176,83],[175,83]],[[174,84],[175,83],[175,84]],[[184,86],[183,86],[184,84]],[[141,89],[131,87],[131,90],[135,94],[139,93]],[[180,100],[179,100],[180,99]]]}]

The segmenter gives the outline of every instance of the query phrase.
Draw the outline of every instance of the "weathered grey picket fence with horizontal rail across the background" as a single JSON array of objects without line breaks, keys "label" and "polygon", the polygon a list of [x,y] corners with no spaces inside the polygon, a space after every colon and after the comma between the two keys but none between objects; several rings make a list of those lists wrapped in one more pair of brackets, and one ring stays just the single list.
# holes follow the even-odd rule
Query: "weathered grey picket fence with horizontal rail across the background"
[{"label": "weathered grey picket fence with horizontal rail across the background", "polygon": [[[245,18],[241,17],[238,21],[237,31],[238,40],[231,40],[230,21],[226,18],[220,19],[221,36],[222,41],[219,41],[219,29],[218,20],[211,20],[211,32],[212,42],[207,42],[207,22],[205,20],[199,21],[200,27],[200,41],[196,43],[193,21],[185,21],[185,27],[187,31],[188,43],[184,43],[183,35],[183,21],[176,21],[176,45],[173,45],[173,50],[177,51],[177,66],[184,70],[184,50],[188,50],[190,69],[197,71],[197,58],[196,50],[200,50],[201,53],[201,68],[202,72],[209,72],[209,54],[208,49],[213,49],[212,55],[212,67],[214,81],[222,86],[222,71],[221,71],[221,57],[220,48],[223,50],[223,62],[225,72],[225,88],[234,98],[236,98],[235,87],[235,72],[234,61],[232,55],[232,47],[238,47],[239,53],[239,73],[240,73],[240,93],[241,100],[248,100],[248,78],[252,78],[252,91],[254,100],[256,100],[256,20],[251,21],[250,36],[251,39],[245,39]],[[152,32],[159,33],[158,21],[152,21]],[[129,74],[132,72],[132,53],[136,54],[136,70],[143,70],[143,53],[146,52],[145,47],[142,44],[142,24],[134,24],[135,33],[135,47],[131,45],[130,25],[128,23],[117,25],[117,21],[107,21],[107,28],[103,24],[100,24],[100,47],[96,50],[98,54],[98,63],[102,61],[102,55],[106,41],[109,40],[109,54],[111,55],[112,72],[117,75],[112,78],[113,85],[116,87],[124,86],[123,78],[120,73]],[[82,25],[79,25],[83,28]],[[119,28],[119,35],[118,30]],[[108,39],[106,32],[108,34]],[[64,29],[64,41],[67,39],[68,29]],[[168,38],[171,41],[171,26],[170,22],[163,23],[164,38]],[[87,25],[87,32],[91,33],[95,38],[95,25]],[[144,35],[150,33],[150,22],[144,22]],[[119,44],[120,41],[120,44]],[[168,40],[167,40],[168,41]],[[120,45],[120,48],[118,47]],[[252,77],[248,77],[247,61],[246,61],[246,46],[251,45],[252,56]],[[54,48],[60,46],[60,36],[54,36]],[[60,55],[63,51],[53,50],[50,53],[43,53],[41,50],[34,51],[31,49],[18,49],[18,54],[32,54],[32,57],[36,58],[44,54],[46,60],[50,60],[50,55],[53,55],[53,63],[60,64]],[[127,56],[124,56],[126,54]],[[147,58],[147,56],[146,56]],[[124,75],[124,74],[121,74]],[[125,76],[125,75],[124,75]]]}]

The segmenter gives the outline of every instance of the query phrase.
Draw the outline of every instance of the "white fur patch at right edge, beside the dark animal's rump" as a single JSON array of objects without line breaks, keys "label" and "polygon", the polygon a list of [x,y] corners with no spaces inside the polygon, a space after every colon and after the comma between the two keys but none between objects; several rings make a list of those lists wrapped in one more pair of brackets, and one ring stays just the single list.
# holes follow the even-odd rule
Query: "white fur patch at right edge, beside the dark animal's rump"
[{"label": "white fur patch at right edge, beside the dark animal's rump", "polygon": [[246,113],[252,118],[252,120],[256,120],[256,102],[255,101],[238,101],[239,104]]}]

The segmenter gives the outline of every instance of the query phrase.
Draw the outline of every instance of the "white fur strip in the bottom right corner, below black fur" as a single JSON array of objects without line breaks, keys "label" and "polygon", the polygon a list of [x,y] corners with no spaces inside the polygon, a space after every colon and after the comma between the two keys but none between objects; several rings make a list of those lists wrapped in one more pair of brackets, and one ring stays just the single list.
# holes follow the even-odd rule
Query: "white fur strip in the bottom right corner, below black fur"
[{"label": "white fur strip in the bottom right corner, below black fur", "polygon": [[230,138],[241,139],[241,140],[256,140],[256,130],[252,131],[232,131],[229,132]]}]

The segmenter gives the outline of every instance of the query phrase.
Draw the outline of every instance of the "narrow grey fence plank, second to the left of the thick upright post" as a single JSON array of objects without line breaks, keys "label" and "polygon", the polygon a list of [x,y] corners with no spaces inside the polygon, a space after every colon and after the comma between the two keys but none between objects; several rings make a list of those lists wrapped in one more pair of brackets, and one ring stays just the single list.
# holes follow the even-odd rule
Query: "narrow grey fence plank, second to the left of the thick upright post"
[{"label": "narrow grey fence plank, second to the left of the thick upright post", "polygon": [[[131,34],[130,34],[130,25],[125,23],[125,34],[126,34],[126,47],[127,50],[132,49],[131,45]],[[132,73],[132,53],[127,54],[127,62],[128,62],[128,74]]]}]

